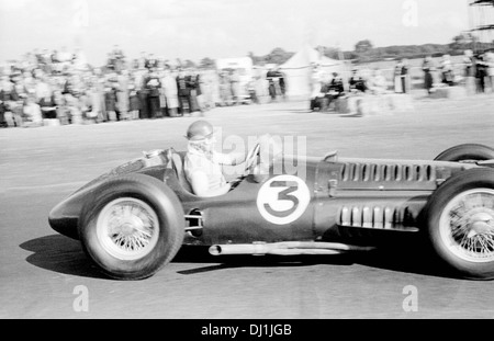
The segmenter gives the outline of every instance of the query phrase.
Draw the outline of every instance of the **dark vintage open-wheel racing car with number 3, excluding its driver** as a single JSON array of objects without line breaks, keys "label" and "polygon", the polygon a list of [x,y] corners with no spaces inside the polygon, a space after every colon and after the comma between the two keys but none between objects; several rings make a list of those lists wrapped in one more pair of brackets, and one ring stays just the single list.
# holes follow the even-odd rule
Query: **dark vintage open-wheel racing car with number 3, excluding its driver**
[{"label": "dark vintage open-wheel racing car with number 3, excluding its driver", "polygon": [[117,280],[154,275],[182,245],[210,247],[214,255],[374,247],[358,240],[359,231],[422,234],[460,277],[494,279],[494,149],[461,145],[435,160],[332,152],[295,160],[305,169],[301,177],[283,166],[290,156],[262,160],[263,148],[269,146],[259,143],[250,150],[235,190],[212,198],[192,194],[184,152],[145,152],[71,194],[49,213],[49,224],[80,240],[102,272]]}]

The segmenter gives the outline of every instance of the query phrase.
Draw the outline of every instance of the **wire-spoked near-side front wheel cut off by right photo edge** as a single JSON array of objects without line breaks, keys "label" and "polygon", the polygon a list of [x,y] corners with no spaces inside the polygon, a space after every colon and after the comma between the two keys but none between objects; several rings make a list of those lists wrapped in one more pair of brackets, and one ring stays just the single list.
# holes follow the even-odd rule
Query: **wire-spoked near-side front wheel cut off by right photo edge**
[{"label": "wire-spoked near-side front wheel cut off by right photo edge", "polygon": [[441,263],[463,279],[494,279],[494,170],[451,177],[430,196],[424,217]]}]

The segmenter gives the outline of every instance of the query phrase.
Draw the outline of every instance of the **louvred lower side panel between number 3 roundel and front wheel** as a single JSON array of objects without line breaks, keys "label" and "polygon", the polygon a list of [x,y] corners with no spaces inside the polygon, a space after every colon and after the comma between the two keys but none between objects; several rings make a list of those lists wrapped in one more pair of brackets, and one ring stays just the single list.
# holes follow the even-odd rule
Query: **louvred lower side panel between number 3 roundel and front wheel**
[{"label": "louvred lower side panel between number 3 roundel and front wheel", "polygon": [[[436,187],[429,180],[405,184],[403,190],[384,190],[382,182],[346,177],[348,163],[321,162],[317,169],[314,232],[321,238],[337,235],[339,227],[407,230],[418,229],[419,214]],[[375,166],[379,168],[379,164]],[[361,173],[360,173],[361,174]],[[395,185],[395,184],[392,184]],[[409,190],[414,187],[415,190]]]}]

